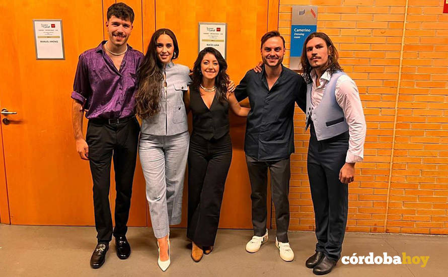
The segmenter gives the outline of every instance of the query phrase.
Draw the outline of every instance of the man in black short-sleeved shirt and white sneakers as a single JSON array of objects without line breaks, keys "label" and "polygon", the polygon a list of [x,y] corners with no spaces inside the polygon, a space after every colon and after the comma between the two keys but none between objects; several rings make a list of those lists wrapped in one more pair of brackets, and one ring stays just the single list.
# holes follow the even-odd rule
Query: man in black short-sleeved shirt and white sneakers
[{"label": "man in black short-sleeved shirt and white sneakers", "polygon": [[254,253],[268,240],[267,170],[271,174],[272,199],[277,225],[276,246],[280,257],[292,261],[288,243],[289,156],[294,152],[294,102],[305,111],[307,86],[302,76],[282,65],[283,37],[277,31],[261,38],[261,73],[248,71],[235,90],[238,101],[249,97],[244,150],[252,188],[254,236],[246,250]]}]

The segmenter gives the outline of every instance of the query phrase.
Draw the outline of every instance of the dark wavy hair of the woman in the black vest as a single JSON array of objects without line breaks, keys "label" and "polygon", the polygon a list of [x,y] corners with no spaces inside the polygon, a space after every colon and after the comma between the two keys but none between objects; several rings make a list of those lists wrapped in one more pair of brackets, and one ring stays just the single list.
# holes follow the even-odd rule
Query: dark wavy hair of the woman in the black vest
[{"label": "dark wavy hair of the woman in the black vest", "polygon": [[199,90],[202,82],[201,62],[205,54],[210,53],[216,57],[219,64],[219,71],[215,77],[216,93],[215,97],[220,102],[226,102],[227,100],[227,85],[229,84],[229,75],[227,74],[227,62],[222,57],[221,53],[213,47],[205,47],[197,55],[196,61],[193,65],[193,88]]}]

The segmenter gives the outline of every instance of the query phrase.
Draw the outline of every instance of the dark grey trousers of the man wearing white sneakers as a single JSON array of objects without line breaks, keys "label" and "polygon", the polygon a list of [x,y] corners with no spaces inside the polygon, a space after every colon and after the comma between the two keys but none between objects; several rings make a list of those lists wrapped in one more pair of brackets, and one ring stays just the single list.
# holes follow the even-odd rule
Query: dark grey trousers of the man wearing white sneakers
[{"label": "dark grey trousers of the man wearing white sneakers", "polygon": [[289,158],[279,161],[257,161],[246,155],[247,169],[251,181],[252,225],[255,236],[266,233],[267,218],[267,174],[271,174],[271,194],[275,206],[275,222],[277,225],[277,240],[288,242],[289,226]]}]

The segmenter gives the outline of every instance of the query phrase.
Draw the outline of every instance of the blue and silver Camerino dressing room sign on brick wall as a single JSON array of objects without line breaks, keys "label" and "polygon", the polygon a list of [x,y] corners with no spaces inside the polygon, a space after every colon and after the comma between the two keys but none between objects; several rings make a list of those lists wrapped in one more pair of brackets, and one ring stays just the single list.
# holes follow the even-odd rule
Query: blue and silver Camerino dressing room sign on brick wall
[{"label": "blue and silver Camerino dressing room sign on brick wall", "polygon": [[292,6],[291,51],[289,68],[300,69],[300,56],[305,39],[317,30],[317,6]]}]

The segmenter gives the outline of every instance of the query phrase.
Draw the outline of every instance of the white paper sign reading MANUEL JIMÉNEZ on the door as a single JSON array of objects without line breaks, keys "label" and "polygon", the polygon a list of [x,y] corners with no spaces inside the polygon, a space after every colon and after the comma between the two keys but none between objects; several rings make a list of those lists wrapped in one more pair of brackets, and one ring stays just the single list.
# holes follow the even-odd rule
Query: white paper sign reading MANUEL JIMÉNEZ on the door
[{"label": "white paper sign reading MANUEL JIM\u00c9NEZ on the door", "polygon": [[33,19],[36,59],[65,59],[62,20]]}]

